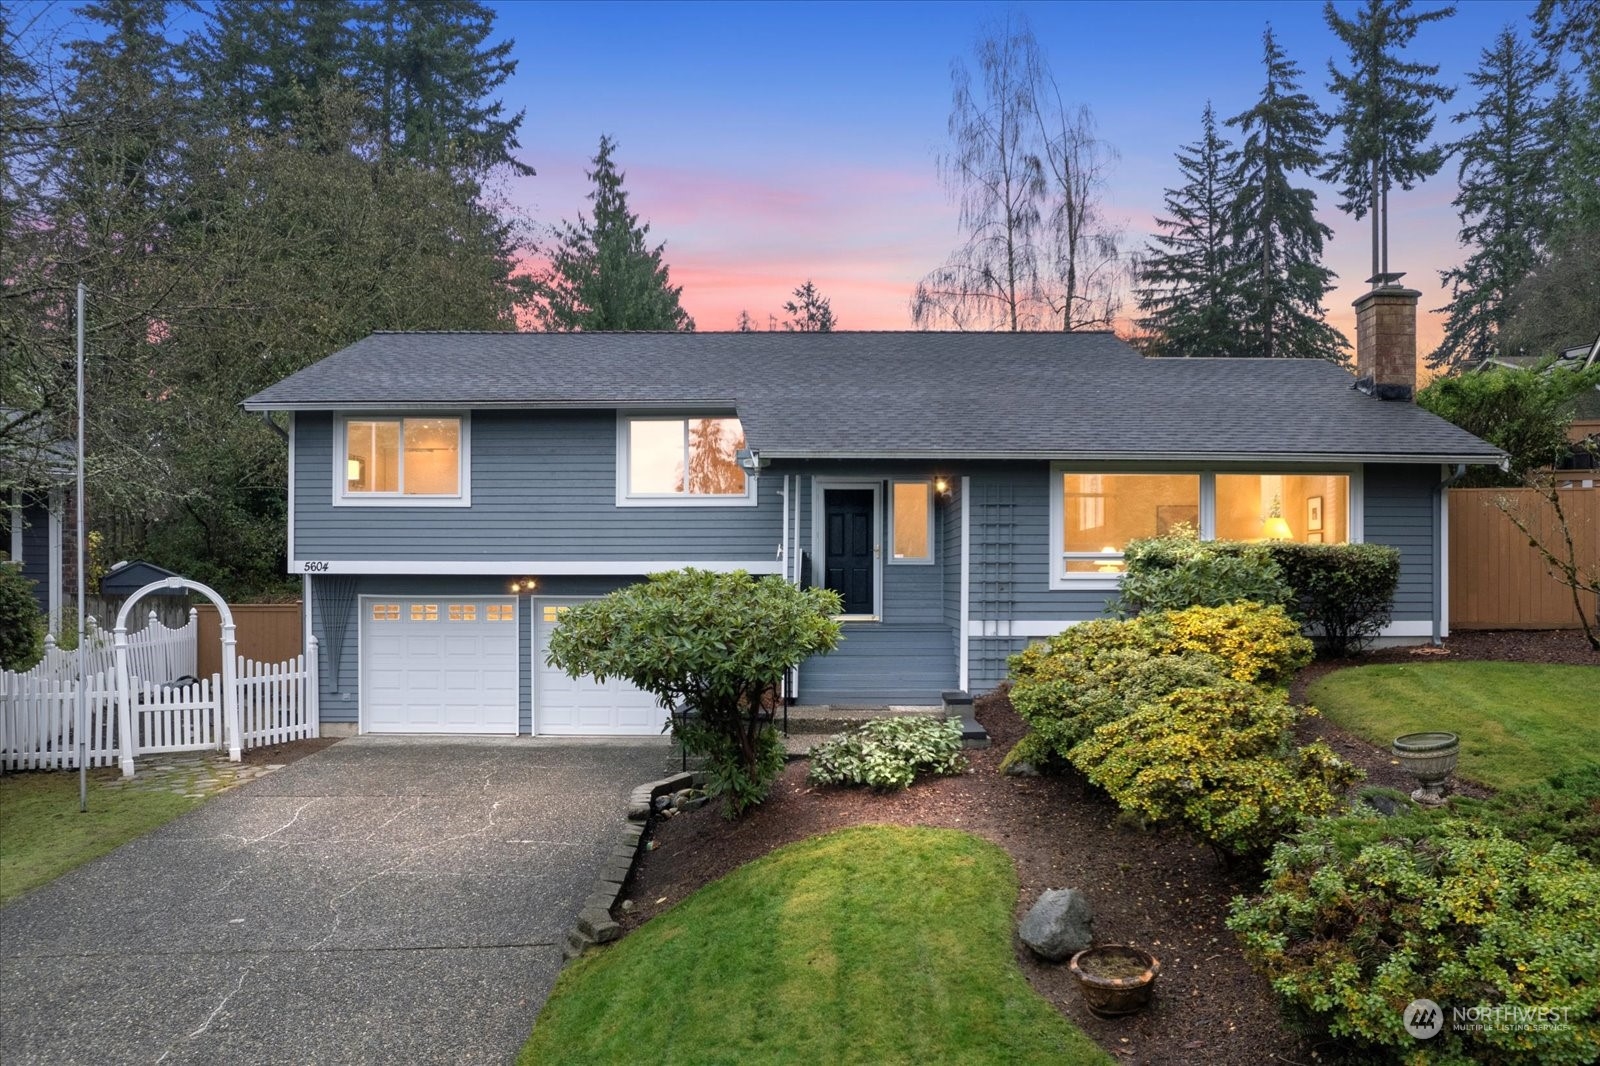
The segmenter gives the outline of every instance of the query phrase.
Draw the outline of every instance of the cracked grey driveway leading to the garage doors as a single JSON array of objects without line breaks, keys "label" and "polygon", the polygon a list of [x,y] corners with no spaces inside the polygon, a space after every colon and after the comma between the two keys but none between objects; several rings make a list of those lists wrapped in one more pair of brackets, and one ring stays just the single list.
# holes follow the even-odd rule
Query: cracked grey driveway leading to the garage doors
[{"label": "cracked grey driveway leading to the garage doors", "polygon": [[507,1063],[664,741],[355,738],[0,909],[0,1058]]}]

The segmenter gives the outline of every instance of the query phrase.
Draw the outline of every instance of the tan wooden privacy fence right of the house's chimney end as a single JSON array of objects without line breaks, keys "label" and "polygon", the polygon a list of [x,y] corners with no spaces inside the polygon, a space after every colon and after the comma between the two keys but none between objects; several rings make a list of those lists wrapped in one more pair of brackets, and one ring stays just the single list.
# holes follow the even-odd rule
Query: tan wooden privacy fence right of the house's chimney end
[{"label": "tan wooden privacy fence right of the house's chimney end", "polygon": [[[1498,506],[1515,514],[1557,555],[1565,551],[1555,509],[1534,488],[1450,490],[1450,627],[1573,629],[1573,592],[1549,575],[1539,555]],[[1600,570],[1600,490],[1562,490],[1579,567]],[[1594,595],[1586,610],[1600,608]]]}]

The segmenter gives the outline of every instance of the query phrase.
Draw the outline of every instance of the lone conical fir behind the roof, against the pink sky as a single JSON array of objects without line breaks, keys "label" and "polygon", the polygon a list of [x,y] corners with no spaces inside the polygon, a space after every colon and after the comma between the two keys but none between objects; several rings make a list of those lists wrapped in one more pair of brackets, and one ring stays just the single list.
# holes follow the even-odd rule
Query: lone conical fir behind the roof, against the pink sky
[{"label": "lone conical fir behind the roof, against the pink sky", "polygon": [[550,267],[539,280],[544,330],[693,330],[678,306],[682,285],[667,279],[666,242],[650,248],[648,224],[627,210],[624,174],[611,160],[616,142],[600,138],[589,179],[594,218],[578,216],[557,230]]}]

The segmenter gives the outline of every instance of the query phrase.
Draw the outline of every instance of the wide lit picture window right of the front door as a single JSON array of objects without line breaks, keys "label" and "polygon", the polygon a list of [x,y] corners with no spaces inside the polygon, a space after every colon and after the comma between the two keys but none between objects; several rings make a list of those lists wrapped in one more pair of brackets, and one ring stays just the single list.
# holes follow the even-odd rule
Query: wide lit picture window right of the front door
[{"label": "wide lit picture window right of the front door", "polygon": [[1344,544],[1350,474],[1085,472],[1053,467],[1054,589],[1115,587],[1130,541],[1181,528],[1202,539]]}]

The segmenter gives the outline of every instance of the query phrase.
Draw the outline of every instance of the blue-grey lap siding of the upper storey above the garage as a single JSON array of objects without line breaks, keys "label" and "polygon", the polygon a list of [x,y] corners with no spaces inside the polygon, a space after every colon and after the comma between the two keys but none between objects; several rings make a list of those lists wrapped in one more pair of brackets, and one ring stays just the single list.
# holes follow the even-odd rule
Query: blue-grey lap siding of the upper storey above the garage
[{"label": "blue-grey lap siding of the upper storey above the garage", "polygon": [[619,507],[610,411],[475,411],[470,507],[334,507],[334,424],[296,416],[296,559],[765,562],[781,539],[778,477],[754,507]]}]

